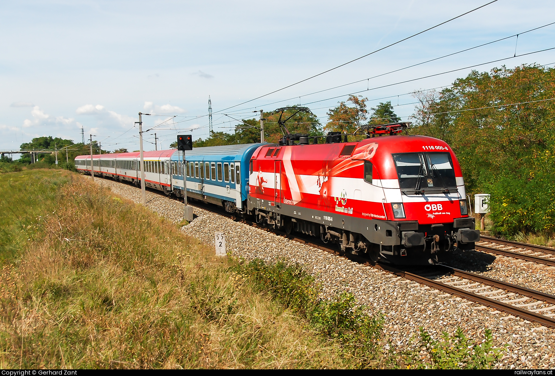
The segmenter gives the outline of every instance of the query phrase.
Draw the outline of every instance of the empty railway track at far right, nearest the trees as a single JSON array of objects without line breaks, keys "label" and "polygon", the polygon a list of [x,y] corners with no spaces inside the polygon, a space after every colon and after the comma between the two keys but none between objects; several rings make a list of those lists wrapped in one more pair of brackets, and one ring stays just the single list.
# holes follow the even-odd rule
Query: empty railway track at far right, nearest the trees
[{"label": "empty railway track at far right, nearest the trees", "polygon": [[555,266],[555,249],[553,248],[481,236],[480,242],[476,243],[476,250]]}]

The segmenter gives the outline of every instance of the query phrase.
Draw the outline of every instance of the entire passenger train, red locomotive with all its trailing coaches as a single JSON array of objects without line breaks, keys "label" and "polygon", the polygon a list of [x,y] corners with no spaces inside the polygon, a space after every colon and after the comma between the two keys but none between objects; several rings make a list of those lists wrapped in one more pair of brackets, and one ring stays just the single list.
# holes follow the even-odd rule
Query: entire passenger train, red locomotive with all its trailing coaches
[{"label": "entire passenger train, red locomotive with all its trailing coaches", "polygon": [[[191,199],[374,261],[436,263],[457,247],[474,247],[480,232],[468,216],[460,165],[445,142],[402,135],[326,141],[195,148],[185,164],[176,150],[147,152],[145,182],[182,196],[185,175]],[[139,182],[134,154],[93,156],[95,174]],[[76,166],[90,173],[90,156],[76,158]]]}]

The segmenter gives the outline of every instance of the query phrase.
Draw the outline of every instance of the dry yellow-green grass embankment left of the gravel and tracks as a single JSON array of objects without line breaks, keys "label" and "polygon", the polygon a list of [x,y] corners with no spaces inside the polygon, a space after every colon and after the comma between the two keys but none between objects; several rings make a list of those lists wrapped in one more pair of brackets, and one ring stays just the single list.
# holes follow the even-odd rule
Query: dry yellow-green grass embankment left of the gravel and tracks
[{"label": "dry yellow-green grass embankment left of the gravel and tracks", "polygon": [[1,368],[349,367],[194,238],[67,171],[0,176]]}]

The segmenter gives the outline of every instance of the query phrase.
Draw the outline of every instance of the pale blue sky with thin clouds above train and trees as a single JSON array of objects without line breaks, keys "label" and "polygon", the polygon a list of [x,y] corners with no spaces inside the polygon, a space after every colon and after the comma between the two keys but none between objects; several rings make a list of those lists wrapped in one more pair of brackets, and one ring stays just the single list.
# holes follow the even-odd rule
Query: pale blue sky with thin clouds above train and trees
[{"label": "pale blue sky with thin clouds above train and trees", "polygon": [[[483,1],[20,1],[0,3],[0,149],[33,137],[80,141],[103,149],[138,149],[138,112],[167,149],[178,133],[208,135],[208,96],[215,130],[236,121],[220,110],[272,92],[403,39]],[[511,57],[516,38],[368,82],[306,95],[555,22],[555,3],[499,0],[432,31],[278,93],[224,111],[306,104],[326,121],[346,94]],[[555,47],[555,25],[520,35],[516,53]],[[482,65],[555,63],[555,50]],[[551,65],[552,67],[553,65]],[[442,87],[471,69],[361,93],[369,106],[391,100],[403,120],[407,93]],[[345,95],[341,98],[328,99]],[[398,95],[398,98],[397,98]],[[300,96],[300,98],[299,98]],[[392,96],[388,99],[378,99]],[[290,99],[295,98],[295,99]],[[290,99],[290,100],[286,100]],[[327,100],[326,100],[327,99]],[[378,99],[378,100],[373,100]],[[285,101],[282,101],[285,100]],[[275,101],[281,101],[272,104]],[[312,103],[315,102],[315,103]],[[398,104],[398,105],[397,105]],[[403,105],[405,104],[405,105]],[[231,122],[230,122],[231,121]],[[145,134],[145,140],[154,141]],[[145,150],[154,145],[145,142]]]}]

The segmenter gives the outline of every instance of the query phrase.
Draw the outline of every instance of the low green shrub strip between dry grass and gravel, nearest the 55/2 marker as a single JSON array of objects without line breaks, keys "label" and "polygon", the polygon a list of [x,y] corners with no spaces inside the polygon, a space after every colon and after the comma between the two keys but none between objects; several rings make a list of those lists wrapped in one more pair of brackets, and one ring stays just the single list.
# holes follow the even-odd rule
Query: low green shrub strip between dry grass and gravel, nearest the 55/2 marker
[{"label": "low green shrub strip between dry grass and gravel, nearest the 55/2 marker", "polygon": [[380,363],[383,319],[371,316],[368,307],[357,305],[351,293],[343,292],[332,299],[320,298],[314,277],[299,265],[281,261],[266,263],[255,259],[239,263],[234,270],[306,319],[317,333],[339,343],[351,367],[370,368]]}]

